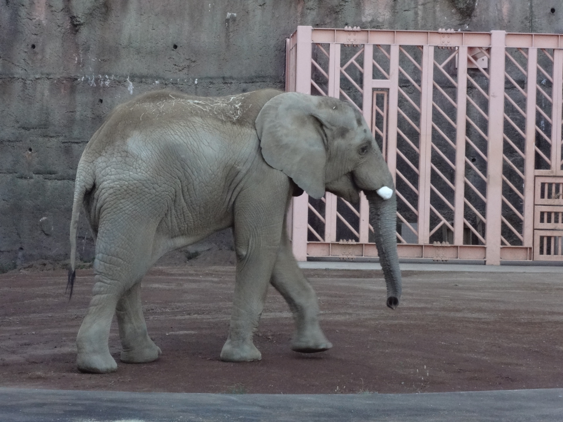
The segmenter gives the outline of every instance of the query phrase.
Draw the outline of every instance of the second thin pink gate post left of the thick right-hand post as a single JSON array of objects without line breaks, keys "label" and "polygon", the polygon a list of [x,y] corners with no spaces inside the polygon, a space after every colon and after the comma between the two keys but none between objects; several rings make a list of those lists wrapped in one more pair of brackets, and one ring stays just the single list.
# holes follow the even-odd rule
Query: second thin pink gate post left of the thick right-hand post
[{"label": "second thin pink gate post left of the thick right-hand post", "polygon": [[421,136],[419,141],[418,243],[430,241],[430,159],[432,156],[432,80],[434,79],[434,46],[422,47]]}]

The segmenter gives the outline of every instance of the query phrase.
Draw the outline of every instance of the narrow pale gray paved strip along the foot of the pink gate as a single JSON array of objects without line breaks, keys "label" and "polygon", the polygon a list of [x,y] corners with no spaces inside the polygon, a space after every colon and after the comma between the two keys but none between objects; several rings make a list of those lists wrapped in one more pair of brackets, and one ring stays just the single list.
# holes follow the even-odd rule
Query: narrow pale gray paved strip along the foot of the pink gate
[{"label": "narrow pale gray paved strip along the foot of the pink gate", "polygon": [[[310,270],[381,270],[377,262],[323,262],[301,261],[300,268]],[[459,271],[459,272],[555,272],[563,274],[563,267],[553,266],[509,266],[468,264],[410,264],[400,263],[403,271]]]}]

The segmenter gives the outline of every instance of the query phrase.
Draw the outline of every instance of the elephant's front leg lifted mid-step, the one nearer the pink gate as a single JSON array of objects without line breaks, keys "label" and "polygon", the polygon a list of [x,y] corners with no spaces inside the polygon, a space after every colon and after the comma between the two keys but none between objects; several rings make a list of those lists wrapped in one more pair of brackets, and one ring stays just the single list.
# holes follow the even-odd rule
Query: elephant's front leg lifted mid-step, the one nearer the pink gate
[{"label": "elephant's front leg lifted mid-step, the one nearer the pink gate", "polygon": [[324,352],[330,349],[332,344],[324,336],[319,326],[317,296],[297,266],[286,233],[284,227],[271,284],[284,297],[293,313],[296,331],[291,348],[302,353]]}]

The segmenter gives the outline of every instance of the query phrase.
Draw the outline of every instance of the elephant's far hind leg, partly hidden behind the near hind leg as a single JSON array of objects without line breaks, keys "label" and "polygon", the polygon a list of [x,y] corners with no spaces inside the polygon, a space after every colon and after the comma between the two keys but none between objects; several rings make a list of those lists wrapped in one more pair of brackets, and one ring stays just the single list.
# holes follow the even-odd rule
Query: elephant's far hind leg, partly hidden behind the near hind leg
[{"label": "elephant's far hind leg, partly hidden behind the near hind leg", "polygon": [[141,282],[127,290],[116,309],[122,352],[120,360],[126,363],[146,363],[157,360],[162,352],[146,331],[142,315]]}]

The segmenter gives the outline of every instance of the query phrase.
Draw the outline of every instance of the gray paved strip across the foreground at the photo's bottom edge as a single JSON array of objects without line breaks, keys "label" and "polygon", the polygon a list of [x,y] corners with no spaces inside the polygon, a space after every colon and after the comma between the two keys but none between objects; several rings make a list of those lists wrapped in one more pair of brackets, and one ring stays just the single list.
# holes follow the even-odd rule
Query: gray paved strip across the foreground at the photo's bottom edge
[{"label": "gray paved strip across the foreground at the photo's bottom edge", "polygon": [[563,388],[425,394],[193,394],[0,388],[2,422],[555,422]]}]

